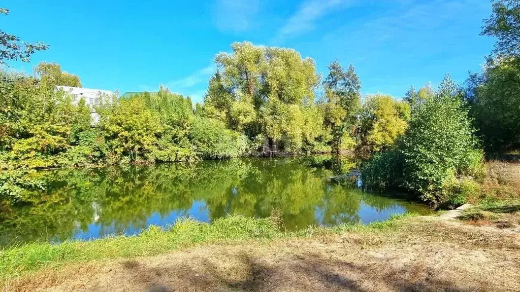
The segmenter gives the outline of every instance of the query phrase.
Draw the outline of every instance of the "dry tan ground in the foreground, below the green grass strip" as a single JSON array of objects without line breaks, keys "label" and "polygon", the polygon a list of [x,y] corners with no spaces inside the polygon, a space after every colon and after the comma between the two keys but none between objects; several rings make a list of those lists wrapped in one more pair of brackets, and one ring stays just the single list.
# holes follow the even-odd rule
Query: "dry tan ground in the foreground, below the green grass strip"
[{"label": "dry tan ground in the foreground, below the green grass strip", "polygon": [[42,271],[12,291],[520,291],[520,234],[431,217]]}]

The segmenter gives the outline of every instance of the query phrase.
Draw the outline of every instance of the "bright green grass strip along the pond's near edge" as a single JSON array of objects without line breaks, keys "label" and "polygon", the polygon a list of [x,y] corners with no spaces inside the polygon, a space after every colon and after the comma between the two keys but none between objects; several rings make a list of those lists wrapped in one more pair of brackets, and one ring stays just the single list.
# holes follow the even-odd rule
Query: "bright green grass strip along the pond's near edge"
[{"label": "bright green grass strip along the pond's near edge", "polygon": [[276,238],[305,237],[345,231],[382,231],[396,227],[400,218],[374,222],[343,224],[332,228],[309,227],[298,232],[285,232],[278,220],[272,218],[248,218],[230,215],[213,223],[191,219],[178,220],[165,230],[150,227],[137,236],[115,236],[93,241],[67,241],[60,244],[30,243],[11,246],[0,251],[0,278],[10,280],[27,276],[44,267],[59,268],[66,264],[84,261],[133,258],[163,254],[179,248],[200,244],[229,244],[237,241],[270,241]]}]

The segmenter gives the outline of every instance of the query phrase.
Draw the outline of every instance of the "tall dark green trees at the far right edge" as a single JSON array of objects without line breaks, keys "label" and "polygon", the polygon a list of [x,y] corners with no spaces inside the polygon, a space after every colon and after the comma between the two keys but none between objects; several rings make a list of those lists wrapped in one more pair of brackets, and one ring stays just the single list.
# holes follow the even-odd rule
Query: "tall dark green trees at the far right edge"
[{"label": "tall dark green trees at the far right edge", "polygon": [[466,100],[488,154],[520,148],[520,6],[493,0],[480,35],[496,37],[481,73],[470,74]]}]

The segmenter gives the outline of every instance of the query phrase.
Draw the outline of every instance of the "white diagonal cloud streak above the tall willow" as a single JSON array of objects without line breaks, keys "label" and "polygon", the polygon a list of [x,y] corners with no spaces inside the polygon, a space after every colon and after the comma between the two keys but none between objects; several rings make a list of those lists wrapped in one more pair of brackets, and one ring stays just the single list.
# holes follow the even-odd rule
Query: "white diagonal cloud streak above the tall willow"
[{"label": "white diagonal cloud streak above the tall willow", "polygon": [[316,21],[336,9],[345,8],[351,3],[352,0],[307,0],[303,2],[278,30],[274,42],[283,41],[285,38],[313,30]]}]

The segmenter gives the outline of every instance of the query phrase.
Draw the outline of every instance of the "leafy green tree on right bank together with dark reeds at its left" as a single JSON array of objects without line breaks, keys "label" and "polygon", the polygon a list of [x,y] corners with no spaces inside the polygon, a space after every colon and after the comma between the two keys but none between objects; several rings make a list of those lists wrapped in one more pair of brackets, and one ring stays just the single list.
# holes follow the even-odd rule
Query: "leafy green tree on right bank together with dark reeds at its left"
[{"label": "leafy green tree on right bank together with dark reeds at its left", "polygon": [[363,180],[379,188],[407,189],[434,205],[461,201],[465,189],[453,187],[456,178],[479,177],[484,170],[462,94],[446,76],[434,96],[415,100],[397,149],[365,163]]}]

